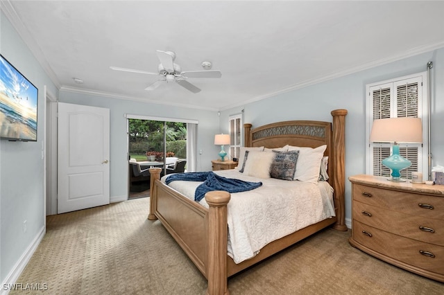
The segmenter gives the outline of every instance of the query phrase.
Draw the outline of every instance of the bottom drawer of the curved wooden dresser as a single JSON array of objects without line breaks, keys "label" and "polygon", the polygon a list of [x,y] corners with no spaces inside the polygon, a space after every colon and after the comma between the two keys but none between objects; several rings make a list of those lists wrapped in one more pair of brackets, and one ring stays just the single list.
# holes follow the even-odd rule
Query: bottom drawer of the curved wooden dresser
[{"label": "bottom drawer of the curved wooden dresser", "polygon": [[[388,258],[444,274],[444,247],[388,233],[353,220],[353,240]],[[434,257],[432,257],[434,256]]]}]

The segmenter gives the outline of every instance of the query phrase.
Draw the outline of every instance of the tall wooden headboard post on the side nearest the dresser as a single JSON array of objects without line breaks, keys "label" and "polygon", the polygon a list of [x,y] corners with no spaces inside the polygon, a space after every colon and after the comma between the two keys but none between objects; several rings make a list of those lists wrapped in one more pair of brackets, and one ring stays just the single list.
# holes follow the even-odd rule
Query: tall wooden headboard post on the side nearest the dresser
[{"label": "tall wooden headboard post on the side nearest the dresser", "polygon": [[333,229],[338,231],[347,231],[345,225],[345,116],[348,111],[346,109],[335,109],[332,111],[333,116],[333,174],[334,174],[334,203],[337,204],[338,220]]}]

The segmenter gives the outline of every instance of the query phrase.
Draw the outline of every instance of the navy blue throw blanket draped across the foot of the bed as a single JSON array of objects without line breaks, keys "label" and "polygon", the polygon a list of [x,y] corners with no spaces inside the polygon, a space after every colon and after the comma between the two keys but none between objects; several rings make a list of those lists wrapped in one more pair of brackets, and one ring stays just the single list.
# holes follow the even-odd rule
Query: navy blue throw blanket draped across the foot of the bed
[{"label": "navy blue throw blanket draped across the foot of the bed", "polygon": [[214,172],[187,172],[172,174],[165,179],[165,183],[169,184],[171,181],[203,181],[196,188],[194,193],[194,201],[199,202],[205,194],[212,190],[225,190],[228,193],[245,192],[246,190],[254,190],[262,186],[262,182],[243,181],[240,179],[226,178],[216,175]]}]

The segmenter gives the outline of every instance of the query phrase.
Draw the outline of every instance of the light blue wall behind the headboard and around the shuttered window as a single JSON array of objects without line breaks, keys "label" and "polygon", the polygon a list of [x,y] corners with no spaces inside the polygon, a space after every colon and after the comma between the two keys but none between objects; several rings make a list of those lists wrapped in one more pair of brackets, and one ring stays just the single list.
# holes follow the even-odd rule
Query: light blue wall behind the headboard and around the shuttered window
[{"label": "light blue wall behind the headboard and around the shuttered window", "polygon": [[[366,172],[366,84],[427,71],[432,61],[433,166],[444,166],[444,48],[391,62],[327,82],[314,84],[241,107],[221,111],[221,131],[228,132],[228,116],[244,109],[244,123],[260,126],[281,120],[331,121],[330,111],[348,109],[345,117],[345,177]],[[351,217],[351,187],[345,184],[345,218]]]}]

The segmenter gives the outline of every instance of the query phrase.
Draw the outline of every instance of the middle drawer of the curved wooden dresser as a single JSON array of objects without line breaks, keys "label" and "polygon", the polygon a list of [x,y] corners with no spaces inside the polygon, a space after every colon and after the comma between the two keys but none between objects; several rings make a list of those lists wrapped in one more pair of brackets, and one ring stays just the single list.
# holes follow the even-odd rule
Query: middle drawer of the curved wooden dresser
[{"label": "middle drawer of the curved wooden dresser", "polygon": [[353,202],[353,219],[389,233],[444,246],[444,220]]}]

